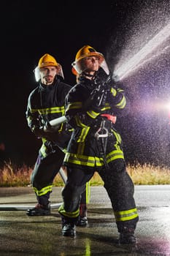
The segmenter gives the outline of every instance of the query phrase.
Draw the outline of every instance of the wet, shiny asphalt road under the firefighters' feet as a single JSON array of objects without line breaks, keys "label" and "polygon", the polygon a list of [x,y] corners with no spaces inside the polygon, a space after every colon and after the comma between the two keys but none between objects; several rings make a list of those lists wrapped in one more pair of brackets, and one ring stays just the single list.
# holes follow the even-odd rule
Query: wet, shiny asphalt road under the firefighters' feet
[{"label": "wet, shiny asphalt road under the firefighters' feet", "polygon": [[117,244],[115,218],[103,187],[91,187],[88,226],[77,227],[75,238],[61,235],[61,187],[53,188],[48,217],[26,216],[24,208],[36,203],[31,187],[0,188],[0,255],[170,255],[170,186],[136,186],[134,197],[139,222],[133,248]]}]

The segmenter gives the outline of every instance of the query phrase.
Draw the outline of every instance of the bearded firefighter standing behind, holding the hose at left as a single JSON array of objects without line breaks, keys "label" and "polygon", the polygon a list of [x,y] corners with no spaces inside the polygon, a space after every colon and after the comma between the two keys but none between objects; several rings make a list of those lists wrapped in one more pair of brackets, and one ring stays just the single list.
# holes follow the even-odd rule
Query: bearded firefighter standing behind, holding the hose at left
[{"label": "bearded firefighter standing behind, holding the hose at left", "polygon": [[[53,179],[63,165],[66,146],[72,135],[69,124],[63,123],[59,127],[51,127],[49,122],[64,116],[65,97],[72,87],[63,82],[61,64],[48,53],[39,59],[34,74],[39,86],[31,91],[28,97],[26,118],[31,131],[37,138],[42,139],[42,146],[31,174],[31,184],[38,203],[34,208],[28,209],[26,214],[42,216],[50,214],[49,199]],[[85,195],[82,195],[83,197]],[[83,202],[80,208],[85,206]],[[82,221],[80,224],[86,225],[86,222]]]}]

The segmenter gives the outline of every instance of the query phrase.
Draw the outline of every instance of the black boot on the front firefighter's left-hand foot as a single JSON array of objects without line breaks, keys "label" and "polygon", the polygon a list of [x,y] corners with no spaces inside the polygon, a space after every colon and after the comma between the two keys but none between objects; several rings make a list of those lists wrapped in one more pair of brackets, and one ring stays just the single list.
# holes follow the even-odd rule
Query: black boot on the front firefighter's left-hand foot
[{"label": "black boot on the front firefighter's left-hand foot", "polygon": [[62,234],[63,236],[75,236],[76,230],[75,230],[75,224],[74,221],[70,218],[61,217],[62,221]]}]

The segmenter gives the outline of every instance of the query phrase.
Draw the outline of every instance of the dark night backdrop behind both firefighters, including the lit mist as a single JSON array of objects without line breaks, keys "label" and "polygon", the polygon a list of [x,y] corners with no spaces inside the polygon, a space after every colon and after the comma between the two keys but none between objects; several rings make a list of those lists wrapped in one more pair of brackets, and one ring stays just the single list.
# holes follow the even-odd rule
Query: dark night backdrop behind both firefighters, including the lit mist
[{"label": "dark night backdrop behind both firefighters, including the lit mist", "polygon": [[[7,1],[1,7],[1,161],[34,165],[41,145],[28,129],[28,94],[33,70],[50,53],[62,65],[66,83],[77,50],[90,45],[116,72],[169,23],[170,1]],[[121,83],[131,110],[117,119],[127,162],[169,165],[169,37]],[[149,58],[148,57],[148,58]]]}]

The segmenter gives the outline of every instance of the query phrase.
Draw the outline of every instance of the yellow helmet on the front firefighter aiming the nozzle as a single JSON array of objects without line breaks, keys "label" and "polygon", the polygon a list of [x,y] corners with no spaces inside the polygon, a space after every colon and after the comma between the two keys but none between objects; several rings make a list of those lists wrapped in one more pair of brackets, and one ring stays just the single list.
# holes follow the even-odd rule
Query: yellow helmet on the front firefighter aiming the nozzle
[{"label": "yellow helmet on the front firefighter aiming the nozzle", "polygon": [[72,63],[72,73],[74,75],[77,75],[77,73],[81,74],[83,71],[85,71],[85,68],[82,67],[83,65],[81,60],[89,56],[97,56],[99,66],[101,66],[101,63],[104,61],[104,56],[102,53],[98,53],[90,45],[85,45],[80,50],[78,50],[75,61]]}]

